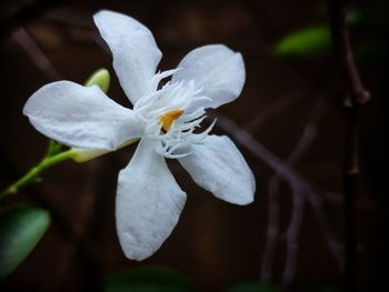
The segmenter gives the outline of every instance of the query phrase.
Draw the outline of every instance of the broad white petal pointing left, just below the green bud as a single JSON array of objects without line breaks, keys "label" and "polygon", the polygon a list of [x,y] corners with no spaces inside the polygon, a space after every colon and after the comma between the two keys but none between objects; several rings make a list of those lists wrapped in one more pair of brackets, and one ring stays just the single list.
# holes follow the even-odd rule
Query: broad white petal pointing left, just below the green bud
[{"label": "broad white petal pointing left, just below the green bud", "polygon": [[141,134],[133,111],[109,99],[97,85],[49,83],[30,97],[23,113],[38,131],[69,147],[114,150]]}]

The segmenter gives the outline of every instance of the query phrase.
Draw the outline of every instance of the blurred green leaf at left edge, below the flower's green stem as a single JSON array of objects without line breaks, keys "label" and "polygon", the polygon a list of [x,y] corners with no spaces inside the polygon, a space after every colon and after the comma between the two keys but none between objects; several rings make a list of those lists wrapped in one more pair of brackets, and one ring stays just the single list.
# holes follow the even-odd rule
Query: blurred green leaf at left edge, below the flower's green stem
[{"label": "blurred green leaf at left edge, below the flower's green stem", "polygon": [[19,205],[0,213],[0,281],[33,250],[49,224],[49,213],[38,207]]}]

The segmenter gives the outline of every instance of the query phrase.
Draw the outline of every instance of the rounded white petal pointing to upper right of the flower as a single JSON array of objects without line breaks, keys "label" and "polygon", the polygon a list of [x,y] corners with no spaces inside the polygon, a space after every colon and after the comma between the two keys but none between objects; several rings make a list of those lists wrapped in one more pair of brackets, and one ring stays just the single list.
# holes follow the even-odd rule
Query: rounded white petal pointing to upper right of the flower
[{"label": "rounded white petal pointing to upper right of the flower", "polygon": [[242,91],[246,71],[240,53],[222,44],[209,44],[189,52],[178,64],[172,80],[194,80],[202,88],[203,94],[212,102],[207,108],[217,108],[237,99]]}]

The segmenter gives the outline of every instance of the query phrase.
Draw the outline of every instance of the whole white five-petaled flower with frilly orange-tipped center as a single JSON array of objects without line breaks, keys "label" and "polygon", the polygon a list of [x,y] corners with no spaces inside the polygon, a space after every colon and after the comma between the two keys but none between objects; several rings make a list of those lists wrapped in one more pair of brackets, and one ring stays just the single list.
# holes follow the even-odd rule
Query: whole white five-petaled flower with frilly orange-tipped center
[{"label": "whole white five-petaled flower with frilly orange-tipped center", "polygon": [[[211,44],[189,52],[178,69],[156,73],[162,54],[146,27],[112,11],[94,14],[94,22],[133,109],[119,105],[96,85],[59,81],[32,94],[23,113],[38,131],[69,147],[114,150],[129,139],[141,139],[119,173],[116,218],[126,255],[142,260],[170,235],[186,202],[166,158],[178,159],[217,198],[252,202],[255,179],[232,141],[208,135],[212,125],[194,131],[206,108],[238,98],[245,64],[240,53]],[[159,87],[168,77],[170,82]]]}]

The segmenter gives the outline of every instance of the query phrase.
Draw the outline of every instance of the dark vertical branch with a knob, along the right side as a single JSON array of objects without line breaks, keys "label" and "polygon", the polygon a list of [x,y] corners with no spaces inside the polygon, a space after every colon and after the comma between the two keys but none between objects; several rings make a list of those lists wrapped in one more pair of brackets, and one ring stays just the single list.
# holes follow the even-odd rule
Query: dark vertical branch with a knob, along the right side
[{"label": "dark vertical branch with a knob, along the right side", "polygon": [[335,52],[347,87],[345,105],[347,110],[345,163],[343,163],[343,213],[346,233],[345,290],[356,291],[356,230],[355,197],[359,165],[359,119],[358,108],[370,98],[361,82],[353,59],[350,34],[346,26],[346,1],[328,0],[329,19]]}]

